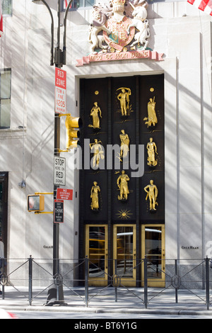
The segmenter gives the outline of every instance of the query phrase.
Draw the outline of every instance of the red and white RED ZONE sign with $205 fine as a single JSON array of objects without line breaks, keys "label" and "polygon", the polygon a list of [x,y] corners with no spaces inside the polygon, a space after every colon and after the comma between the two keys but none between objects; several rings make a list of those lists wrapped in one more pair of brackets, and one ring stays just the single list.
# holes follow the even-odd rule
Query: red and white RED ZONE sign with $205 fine
[{"label": "red and white RED ZONE sign with $205 fine", "polygon": [[66,113],[66,71],[55,67],[55,113]]}]

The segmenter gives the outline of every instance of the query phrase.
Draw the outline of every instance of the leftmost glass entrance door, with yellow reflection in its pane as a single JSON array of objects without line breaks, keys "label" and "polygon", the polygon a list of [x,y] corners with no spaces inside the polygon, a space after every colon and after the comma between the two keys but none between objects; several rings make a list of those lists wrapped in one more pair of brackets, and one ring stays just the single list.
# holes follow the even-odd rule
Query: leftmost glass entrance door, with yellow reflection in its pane
[{"label": "leftmost glass entrance door, with yellow reflection in its pane", "polygon": [[90,286],[107,283],[107,225],[86,225],[86,256]]}]

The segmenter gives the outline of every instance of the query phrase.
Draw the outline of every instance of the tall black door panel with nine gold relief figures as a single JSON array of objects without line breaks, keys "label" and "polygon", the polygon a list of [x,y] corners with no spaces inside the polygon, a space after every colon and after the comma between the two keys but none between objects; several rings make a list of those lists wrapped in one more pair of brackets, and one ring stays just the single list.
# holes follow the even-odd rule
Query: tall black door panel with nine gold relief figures
[{"label": "tall black door panel with nine gold relief figures", "polygon": [[[141,226],[165,224],[164,77],[80,82],[79,256],[88,253],[86,225],[107,226],[107,272],[111,277],[112,261],[118,259],[117,225],[135,226],[130,260],[134,256],[139,260]],[[131,279],[141,281],[141,270],[135,271],[136,278]]]}]

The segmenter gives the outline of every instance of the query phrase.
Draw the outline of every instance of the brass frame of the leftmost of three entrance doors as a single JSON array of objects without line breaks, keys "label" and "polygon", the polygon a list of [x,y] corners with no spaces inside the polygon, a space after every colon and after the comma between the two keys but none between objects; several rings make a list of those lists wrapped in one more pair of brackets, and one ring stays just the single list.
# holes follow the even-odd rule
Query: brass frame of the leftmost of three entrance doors
[{"label": "brass frame of the leftmost of three entrance doors", "polygon": [[107,278],[108,278],[108,228],[107,225],[86,225],[86,256],[89,259],[89,230],[90,227],[105,227],[105,274],[104,277],[90,277],[88,272],[88,284],[89,286],[107,286]]}]

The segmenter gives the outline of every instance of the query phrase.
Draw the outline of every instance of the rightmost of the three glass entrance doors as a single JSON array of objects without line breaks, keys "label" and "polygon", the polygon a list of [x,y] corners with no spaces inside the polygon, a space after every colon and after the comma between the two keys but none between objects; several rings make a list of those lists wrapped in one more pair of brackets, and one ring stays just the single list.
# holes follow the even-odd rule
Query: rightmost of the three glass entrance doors
[{"label": "rightmost of the three glass entrance doors", "polygon": [[[142,258],[146,256],[148,286],[165,285],[165,227],[142,225]],[[142,269],[142,281],[144,278]]]}]

